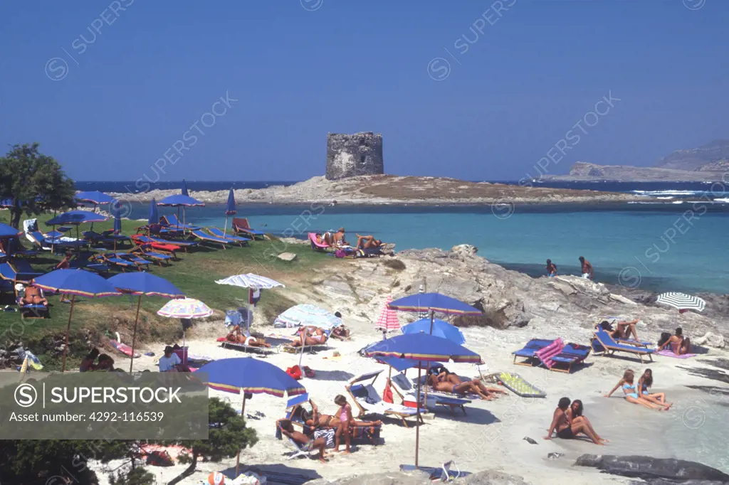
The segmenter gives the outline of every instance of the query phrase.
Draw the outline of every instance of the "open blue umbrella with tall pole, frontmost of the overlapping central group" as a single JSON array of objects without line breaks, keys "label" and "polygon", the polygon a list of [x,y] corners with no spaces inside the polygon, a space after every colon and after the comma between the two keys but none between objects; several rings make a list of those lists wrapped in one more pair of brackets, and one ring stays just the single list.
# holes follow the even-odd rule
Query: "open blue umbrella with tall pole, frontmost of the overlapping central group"
[{"label": "open blue umbrella with tall pole, frontmost of the overlapping central group", "polygon": [[[364,351],[365,355],[374,358],[398,358],[418,361],[418,392],[416,409],[418,422],[420,421],[420,377],[422,362],[472,362],[481,361],[480,355],[468,350],[466,347],[454,344],[448,339],[441,339],[429,334],[405,334],[394,336],[377,342]],[[426,398],[427,399],[427,398]],[[416,427],[415,435],[415,466],[418,468],[418,448],[420,447],[420,426]]]}]

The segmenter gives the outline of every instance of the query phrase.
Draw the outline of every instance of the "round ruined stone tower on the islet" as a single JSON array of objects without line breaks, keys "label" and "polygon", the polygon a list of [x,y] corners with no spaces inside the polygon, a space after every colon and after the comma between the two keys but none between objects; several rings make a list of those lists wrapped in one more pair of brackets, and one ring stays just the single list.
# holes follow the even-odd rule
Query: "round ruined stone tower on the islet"
[{"label": "round ruined stone tower on the islet", "polygon": [[385,173],[382,135],[367,131],[327,135],[327,180]]}]

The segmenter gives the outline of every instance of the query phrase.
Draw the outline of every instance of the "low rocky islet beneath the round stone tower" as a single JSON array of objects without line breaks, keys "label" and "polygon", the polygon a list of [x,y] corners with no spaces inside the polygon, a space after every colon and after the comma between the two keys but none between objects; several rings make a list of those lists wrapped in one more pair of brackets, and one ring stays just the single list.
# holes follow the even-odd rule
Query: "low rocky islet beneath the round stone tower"
[{"label": "low rocky islet beneath the round stone tower", "polygon": [[[306,204],[311,205],[314,213],[323,212],[330,204],[494,204],[499,206],[499,215],[504,218],[511,215],[515,204],[585,204],[646,200],[645,197],[612,192],[489,184],[443,177],[388,175],[348,177],[332,181],[324,177],[313,177],[290,186],[238,189],[233,192],[238,203]],[[120,200],[149,202],[152,197],[160,200],[177,193],[179,190],[152,190],[140,194],[110,195]],[[227,200],[228,191],[190,191],[190,195],[202,202],[223,204]]]}]

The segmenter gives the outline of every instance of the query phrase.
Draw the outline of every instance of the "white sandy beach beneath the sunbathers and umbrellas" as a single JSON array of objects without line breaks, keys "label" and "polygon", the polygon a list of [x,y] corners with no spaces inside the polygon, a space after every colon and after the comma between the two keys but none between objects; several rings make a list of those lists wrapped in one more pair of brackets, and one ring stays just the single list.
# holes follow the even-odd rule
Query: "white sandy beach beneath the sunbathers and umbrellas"
[{"label": "white sandy beach beneath the sunbathers and umbrellas", "polygon": [[[334,309],[332,309],[333,311]],[[373,316],[373,318],[376,318]],[[347,319],[353,335],[350,342],[332,340],[332,350],[319,352],[316,355],[305,354],[303,365],[316,371],[313,379],[303,379],[311,398],[319,404],[324,413],[333,413],[335,395],[344,393],[344,384],[356,374],[386,366],[373,360],[360,358],[357,350],[365,344],[381,338],[373,324],[364,319]],[[208,355],[213,358],[244,358],[247,355],[236,350],[225,350],[209,335],[225,333],[222,322],[206,323],[192,331],[187,340],[191,355]],[[259,331],[268,333],[272,327],[258,327]],[[461,411],[451,414],[447,409],[437,411],[421,426],[420,454],[421,465],[437,466],[449,460],[455,460],[462,470],[477,472],[480,470],[502,470],[516,476],[522,476],[527,482],[534,484],[572,483],[607,483],[627,479],[598,473],[592,468],[572,467],[574,460],[581,454],[644,454],[652,457],[680,457],[684,460],[697,460],[708,465],[729,471],[726,464],[711,462],[710,447],[714,435],[706,433],[713,425],[720,425],[712,414],[714,403],[708,393],[701,390],[688,390],[686,384],[716,385],[717,382],[700,377],[689,376],[687,371],[678,366],[702,366],[696,358],[678,360],[657,356],[650,364],[655,376],[655,391],[665,391],[668,401],[674,402],[670,411],[659,412],[632,405],[620,397],[618,391],[612,398],[602,397],[622,375],[625,368],[633,368],[636,372],[647,368],[637,360],[623,358],[590,357],[587,365],[578,367],[572,374],[545,371],[539,368],[515,366],[512,364],[510,352],[521,348],[532,336],[534,329],[518,328],[499,331],[494,328],[464,328],[467,347],[482,355],[486,360],[489,372],[509,371],[521,374],[525,379],[547,392],[547,398],[519,398],[509,393],[496,401],[475,401],[467,406],[467,415]],[[206,334],[200,338],[200,334]],[[590,331],[585,328],[582,338],[577,342],[588,342]],[[551,335],[539,335],[550,337]],[[182,342],[179,342],[182,344]],[[156,355],[160,355],[163,344],[149,347]],[[332,352],[341,354],[340,360],[332,360]],[[723,352],[712,351],[712,356]],[[259,357],[253,357],[259,358]],[[154,369],[154,359],[142,356],[136,360],[135,369]],[[298,362],[298,355],[286,352],[270,355],[266,360],[281,368],[292,366]],[[128,362],[127,362],[128,363]],[[124,360],[117,358],[117,365],[125,367]],[[451,371],[461,376],[477,376],[475,366],[451,364]],[[482,366],[483,368],[483,366]],[[386,370],[375,382],[381,392],[385,385]],[[409,375],[414,376],[414,371]],[[211,390],[211,395],[227,398],[236,409],[241,407],[241,398]],[[596,446],[582,440],[564,441],[553,439],[545,441],[546,434],[556,403],[562,396],[580,398],[585,403],[585,415],[593,422],[594,427],[604,438],[610,440],[608,446]],[[248,425],[257,430],[259,441],[250,449],[241,453],[241,465],[255,466],[262,470],[281,469],[281,464],[297,470],[292,473],[321,477],[326,481],[336,478],[351,477],[381,472],[392,472],[397,477],[401,464],[414,463],[416,430],[406,428],[394,419],[385,418],[383,426],[383,443],[379,446],[360,444],[351,455],[330,454],[330,461],[321,464],[316,460],[292,460],[286,458],[291,451],[287,441],[274,438],[275,421],[284,416],[286,401],[268,395],[254,395],[246,403],[246,414],[260,411],[265,417],[248,419]],[[374,417],[380,419],[380,417]],[[671,438],[680,433],[685,440]],[[530,437],[537,444],[530,444],[523,438]],[[716,436],[718,438],[718,436]],[[682,443],[691,443],[684,446]],[[558,452],[564,454],[556,460],[547,459],[547,454]],[[112,467],[114,464],[112,462]],[[187,465],[175,465],[171,468],[148,467],[155,473],[160,483],[178,475]],[[103,468],[103,467],[102,467]],[[200,462],[198,471],[182,483],[195,484],[206,479],[209,473],[221,471],[233,478],[235,458],[221,463]],[[97,468],[97,472],[101,472]],[[106,480],[105,473],[98,473]],[[364,483],[364,482],[363,482]]]}]

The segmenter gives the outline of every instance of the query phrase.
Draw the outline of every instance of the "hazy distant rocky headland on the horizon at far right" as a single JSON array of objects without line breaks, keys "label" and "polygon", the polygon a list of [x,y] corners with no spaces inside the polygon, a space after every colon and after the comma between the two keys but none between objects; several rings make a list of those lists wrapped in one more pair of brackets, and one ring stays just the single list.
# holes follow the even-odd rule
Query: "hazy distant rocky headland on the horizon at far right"
[{"label": "hazy distant rocky headland on the horizon at far right", "polygon": [[722,181],[729,173],[729,140],[714,140],[695,149],[677,150],[653,167],[596,165],[577,162],[567,175],[545,175],[549,181]]}]

